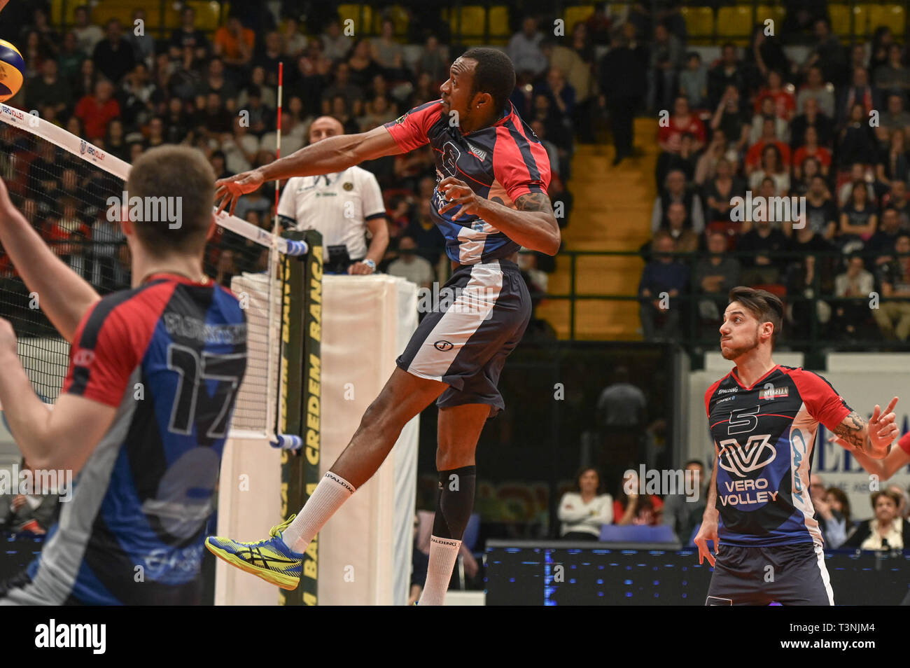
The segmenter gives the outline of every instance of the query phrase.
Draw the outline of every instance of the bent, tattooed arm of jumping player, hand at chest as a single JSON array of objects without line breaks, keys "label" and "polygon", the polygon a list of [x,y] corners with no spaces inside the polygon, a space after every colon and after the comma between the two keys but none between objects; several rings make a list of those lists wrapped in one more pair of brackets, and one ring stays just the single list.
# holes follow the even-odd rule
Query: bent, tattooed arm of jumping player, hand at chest
[{"label": "bent, tattooed arm of jumping player, hand at chest", "polygon": [[517,197],[516,208],[510,208],[479,197],[467,183],[455,177],[443,178],[439,189],[449,202],[440,208],[440,214],[455,208],[453,218],[460,218],[463,214],[480,216],[524,248],[547,255],[559,252],[562,240],[560,225],[556,222],[550,197],[546,193],[528,193]]}]

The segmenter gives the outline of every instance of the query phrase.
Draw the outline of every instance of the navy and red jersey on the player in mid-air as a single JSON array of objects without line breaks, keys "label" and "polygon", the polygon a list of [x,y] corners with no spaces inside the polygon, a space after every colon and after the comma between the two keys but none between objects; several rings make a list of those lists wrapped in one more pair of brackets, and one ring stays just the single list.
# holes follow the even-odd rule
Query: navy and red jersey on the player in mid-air
[{"label": "navy and red jersey on the player in mid-air", "polygon": [[[441,100],[417,106],[385,127],[402,151],[429,142],[436,159],[437,184],[443,178],[456,177],[480,197],[511,208],[522,195],[546,194],[550,187],[547,151],[511,102],[496,123],[468,134],[450,124]],[[437,187],[430,216],[446,239],[446,254],[455,262],[468,265],[508,258],[521,248],[478,216],[454,218],[457,207],[440,215],[443,206]]]}]

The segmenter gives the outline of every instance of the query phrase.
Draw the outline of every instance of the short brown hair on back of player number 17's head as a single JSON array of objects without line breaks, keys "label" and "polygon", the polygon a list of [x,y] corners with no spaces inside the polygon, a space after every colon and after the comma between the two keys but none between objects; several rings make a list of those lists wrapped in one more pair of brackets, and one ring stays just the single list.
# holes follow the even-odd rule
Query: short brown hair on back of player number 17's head
[{"label": "short brown hair on back of player number 17's head", "polygon": [[156,258],[194,255],[206,245],[215,202],[215,171],[196,148],[163,146],[136,158],[126,181],[129,198],[179,197],[179,226],[136,222],[136,237]]}]

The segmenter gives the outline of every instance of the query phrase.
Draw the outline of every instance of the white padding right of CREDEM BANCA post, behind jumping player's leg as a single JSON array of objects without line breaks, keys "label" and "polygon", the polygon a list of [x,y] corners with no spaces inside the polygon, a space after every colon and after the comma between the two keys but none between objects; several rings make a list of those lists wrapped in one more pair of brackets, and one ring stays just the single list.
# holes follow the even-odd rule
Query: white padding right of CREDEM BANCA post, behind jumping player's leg
[{"label": "white padding right of CREDEM BANCA post, behind jumping player's leg", "polygon": [[[324,473],[349,443],[417,327],[417,287],[389,276],[323,278]],[[418,418],[379,471],[319,533],[320,605],[407,602]]]}]

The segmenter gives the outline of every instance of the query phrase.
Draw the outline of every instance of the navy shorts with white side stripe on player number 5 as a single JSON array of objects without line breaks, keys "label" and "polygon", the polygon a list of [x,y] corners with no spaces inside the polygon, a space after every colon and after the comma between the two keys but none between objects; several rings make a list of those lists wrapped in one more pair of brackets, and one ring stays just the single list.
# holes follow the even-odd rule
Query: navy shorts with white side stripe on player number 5
[{"label": "navy shorts with white side stripe on player number 5", "polygon": [[821,545],[720,546],[705,605],[834,605]]}]

